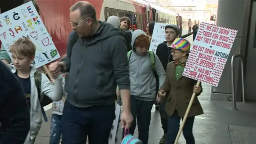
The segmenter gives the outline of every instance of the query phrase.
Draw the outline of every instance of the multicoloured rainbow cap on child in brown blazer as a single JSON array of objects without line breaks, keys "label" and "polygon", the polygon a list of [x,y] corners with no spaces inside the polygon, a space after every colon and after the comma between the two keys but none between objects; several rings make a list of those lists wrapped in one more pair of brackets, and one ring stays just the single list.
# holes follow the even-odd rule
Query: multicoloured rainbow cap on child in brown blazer
[{"label": "multicoloured rainbow cap on child in brown blazer", "polygon": [[176,38],[169,48],[173,48],[181,52],[189,52],[190,42],[184,38]]}]

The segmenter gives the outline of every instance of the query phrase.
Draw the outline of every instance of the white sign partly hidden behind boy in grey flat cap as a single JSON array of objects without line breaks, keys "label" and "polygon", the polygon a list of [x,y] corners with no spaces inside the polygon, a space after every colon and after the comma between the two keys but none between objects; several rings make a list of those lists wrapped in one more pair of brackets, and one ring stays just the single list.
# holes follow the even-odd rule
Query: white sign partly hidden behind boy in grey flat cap
[{"label": "white sign partly hidden behind boy in grey flat cap", "polygon": [[152,34],[149,50],[156,53],[156,48],[159,44],[165,41],[165,29],[168,24],[155,23],[154,31]]}]

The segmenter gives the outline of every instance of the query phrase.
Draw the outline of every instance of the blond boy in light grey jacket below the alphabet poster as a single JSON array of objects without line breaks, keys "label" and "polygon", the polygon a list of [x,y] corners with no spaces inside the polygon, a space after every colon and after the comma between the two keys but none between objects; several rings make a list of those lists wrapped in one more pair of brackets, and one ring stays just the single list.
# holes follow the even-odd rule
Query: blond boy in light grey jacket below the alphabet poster
[{"label": "blond boy in light grey jacket below the alphabet poster", "polygon": [[20,80],[30,107],[30,131],[24,144],[34,144],[42,124],[42,114],[45,116],[40,102],[44,95],[56,101],[62,99],[62,78],[61,76],[57,76],[54,84],[52,84],[45,74],[40,73],[41,88],[40,96],[38,96],[38,89],[36,88],[34,79],[34,75],[38,74],[38,71],[30,65],[35,57],[36,46],[29,38],[19,38],[10,46],[10,52],[12,53],[13,63],[8,66],[12,73]]}]

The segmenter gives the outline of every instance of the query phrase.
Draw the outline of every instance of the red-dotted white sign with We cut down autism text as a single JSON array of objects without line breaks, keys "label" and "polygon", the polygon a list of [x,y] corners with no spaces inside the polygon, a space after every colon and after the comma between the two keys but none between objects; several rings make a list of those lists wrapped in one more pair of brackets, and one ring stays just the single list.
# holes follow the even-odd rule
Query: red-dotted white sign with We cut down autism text
[{"label": "red-dotted white sign with We cut down autism text", "polygon": [[202,22],[182,75],[217,87],[236,34],[237,30]]}]

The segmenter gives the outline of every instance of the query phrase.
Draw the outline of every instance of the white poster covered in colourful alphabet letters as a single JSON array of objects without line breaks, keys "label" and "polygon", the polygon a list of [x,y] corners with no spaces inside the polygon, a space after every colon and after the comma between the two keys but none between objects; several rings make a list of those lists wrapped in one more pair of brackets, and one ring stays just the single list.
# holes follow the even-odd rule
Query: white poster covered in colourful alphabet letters
[{"label": "white poster covered in colourful alphabet letters", "polygon": [[21,37],[30,38],[36,45],[36,55],[32,62],[35,68],[60,58],[32,2],[0,14],[0,40],[10,57],[10,46]]}]

